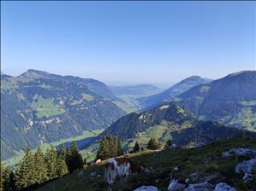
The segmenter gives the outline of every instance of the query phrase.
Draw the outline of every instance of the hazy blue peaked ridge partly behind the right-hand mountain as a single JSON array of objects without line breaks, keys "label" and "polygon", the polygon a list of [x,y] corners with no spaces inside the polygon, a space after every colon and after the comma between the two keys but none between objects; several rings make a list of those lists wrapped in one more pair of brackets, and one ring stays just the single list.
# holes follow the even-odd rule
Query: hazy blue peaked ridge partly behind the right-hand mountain
[{"label": "hazy blue peaked ridge partly behind the right-hand mountain", "polygon": [[208,78],[201,78],[199,76],[191,76],[188,78],[183,79],[181,82],[174,84],[170,87],[168,90],[164,90],[164,92],[139,98],[138,101],[140,105],[142,105],[145,108],[152,108],[160,105],[161,103],[165,101],[171,101],[176,96],[179,96],[183,92],[189,90],[190,88],[199,85],[199,84],[205,84],[210,82],[211,79]]}]

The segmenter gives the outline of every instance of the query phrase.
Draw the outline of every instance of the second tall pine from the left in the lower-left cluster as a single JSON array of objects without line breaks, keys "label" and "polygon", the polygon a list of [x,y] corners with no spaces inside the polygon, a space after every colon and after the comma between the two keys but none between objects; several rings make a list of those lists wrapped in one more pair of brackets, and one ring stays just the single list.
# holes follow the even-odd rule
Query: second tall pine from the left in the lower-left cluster
[{"label": "second tall pine from the left in the lower-left cluster", "polygon": [[37,183],[45,182],[48,180],[47,176],[47,165],[45,162],[45,156],[41,148],[38,147],[36,153],[34,154],[35,161],[35,171],[37,173]]}]

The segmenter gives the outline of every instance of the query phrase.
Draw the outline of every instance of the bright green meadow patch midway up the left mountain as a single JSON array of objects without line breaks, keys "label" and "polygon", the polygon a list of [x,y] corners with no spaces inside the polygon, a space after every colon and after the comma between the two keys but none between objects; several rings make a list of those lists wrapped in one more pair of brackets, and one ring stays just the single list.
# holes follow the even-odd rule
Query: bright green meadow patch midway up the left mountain
[{"label": "bright green meadow patch midway up the left mountain", "polygon": [[50,117],[65,113],[63,107],[53,103],[54,99],[45,99],[42,96],[34,96],[31,107],[37,111],[36,115],[38,118]]}]

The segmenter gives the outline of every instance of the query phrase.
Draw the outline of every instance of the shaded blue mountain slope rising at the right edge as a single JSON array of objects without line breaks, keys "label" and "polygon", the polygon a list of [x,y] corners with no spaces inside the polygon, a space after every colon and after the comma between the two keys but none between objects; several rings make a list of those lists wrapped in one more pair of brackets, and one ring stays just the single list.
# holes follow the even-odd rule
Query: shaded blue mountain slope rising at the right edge
[{"label": "shaded blue mountain slope rising at the right edge", "polygon": [[256,130],[256,71],[235,72],[200,84],[178,99],[199,119]]}]

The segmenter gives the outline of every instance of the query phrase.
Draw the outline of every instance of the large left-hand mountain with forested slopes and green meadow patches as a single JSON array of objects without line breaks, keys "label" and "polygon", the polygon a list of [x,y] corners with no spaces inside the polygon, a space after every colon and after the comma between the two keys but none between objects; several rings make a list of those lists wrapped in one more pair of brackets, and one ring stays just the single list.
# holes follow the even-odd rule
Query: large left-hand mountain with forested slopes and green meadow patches
[{"label": "large left-hand mountain with forested slopes and green meadow patches", "polygon": [[126,114],[95,79],[28,70],[1,75],[1,159],[27,146],[106,128]]}]

